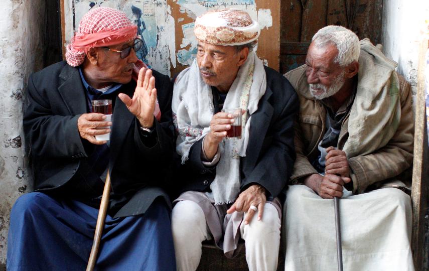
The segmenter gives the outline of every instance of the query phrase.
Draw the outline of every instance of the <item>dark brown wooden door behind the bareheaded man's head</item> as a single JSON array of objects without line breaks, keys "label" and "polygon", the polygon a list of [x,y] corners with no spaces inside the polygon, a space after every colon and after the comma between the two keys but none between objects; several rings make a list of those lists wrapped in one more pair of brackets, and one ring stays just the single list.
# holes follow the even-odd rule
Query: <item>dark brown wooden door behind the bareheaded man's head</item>
[{"label": "dark brown wooden door behind the bareheaded man's head", "polygon": [[280,6],[280,73],[304,64],[316,32],[328,25],[351,29],[359,39],[381,41],[382,0],[288,0]]}]

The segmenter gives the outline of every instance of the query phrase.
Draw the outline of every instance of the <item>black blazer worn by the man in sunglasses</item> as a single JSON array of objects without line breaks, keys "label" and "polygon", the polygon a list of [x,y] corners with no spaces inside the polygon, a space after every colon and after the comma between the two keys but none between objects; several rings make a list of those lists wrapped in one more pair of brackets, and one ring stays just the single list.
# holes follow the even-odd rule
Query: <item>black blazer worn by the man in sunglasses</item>
[{"label": "black blazer worn by the man in sunglasses", "polygon": [[[161,121],[155,119],[156,140],[148,144],[139,124],[125,104],[116,97],[110,137],[109,170],[111,202],[109,214],[115,217],[144,213],[152,202],[170,199],[162,187],[171,176],[173,144],[171,119],[172,84],[153,71]],[[136,83],[131,80],[119,92],[132,97]],[[28,82],[24,131],[30,147],[35,189],[52,195],[82,199],[101,195],[100,185],[82,181],[90,170],[88,156],[94,145],[81,139],[77,120],[88,112],[85,89],[77,68],[59,62],[35,74]]]}]

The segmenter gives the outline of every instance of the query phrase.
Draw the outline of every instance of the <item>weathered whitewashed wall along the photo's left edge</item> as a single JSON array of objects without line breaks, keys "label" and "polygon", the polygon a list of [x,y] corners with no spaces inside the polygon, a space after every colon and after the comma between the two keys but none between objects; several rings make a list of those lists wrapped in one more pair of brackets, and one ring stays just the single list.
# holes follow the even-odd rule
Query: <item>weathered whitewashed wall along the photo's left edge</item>
[{"label": "weathered whitewashed wall along the photo's left edge", "polygon": [[0,9],[0,270],[6,263],[10,210],[30,188],[23,102],[29,74],[43,64],[44,13],[43,0],[2,1]]}]

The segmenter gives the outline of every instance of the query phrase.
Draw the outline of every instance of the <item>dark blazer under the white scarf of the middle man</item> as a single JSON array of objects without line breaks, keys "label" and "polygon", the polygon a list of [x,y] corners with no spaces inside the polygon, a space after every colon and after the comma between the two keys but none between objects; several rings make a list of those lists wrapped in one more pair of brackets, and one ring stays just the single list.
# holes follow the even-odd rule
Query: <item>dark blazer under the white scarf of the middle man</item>
[{"label": "dark blazer under the white scarf of the middle man", "polygon": [[[241,191],[249,185],[263,186],[268,196],[277,197],[287,184],[294,169],[294,120],[298,113],[298,97],[278,72],[264,67],[266,91],[252,114],[246,156],[241,158]],[[214,99],[214,108],[218,109]],[[201,161],[202,140],[189,152],[189,159],[179,166],[181,183],[177,192],[210,191],[216,168],[208,168]],[[177,194],[176,194],[177,196]]]}]

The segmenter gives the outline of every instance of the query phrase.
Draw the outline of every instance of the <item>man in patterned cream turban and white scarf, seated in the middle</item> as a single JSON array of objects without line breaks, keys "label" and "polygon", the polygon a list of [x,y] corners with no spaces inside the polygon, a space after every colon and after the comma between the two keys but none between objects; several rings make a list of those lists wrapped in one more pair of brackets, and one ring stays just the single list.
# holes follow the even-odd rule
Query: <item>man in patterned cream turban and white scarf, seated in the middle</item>
[{"label": "man in patterned cream turban and white scarf, seated in the middle", "polygon": [[[250,270],[275,270],[280,241],[279,196],[293,169],[297,95],[252,51],[259,26],[238,10],[197,18],[197,59],[174,83],[176,149],[183,192],[172,214],[178,270],[195,270],[202,241],[228,257],[244,240]],[[241,108],[241,139],[221,109]],[[241,242],[242,243],[242,242]]]}]

